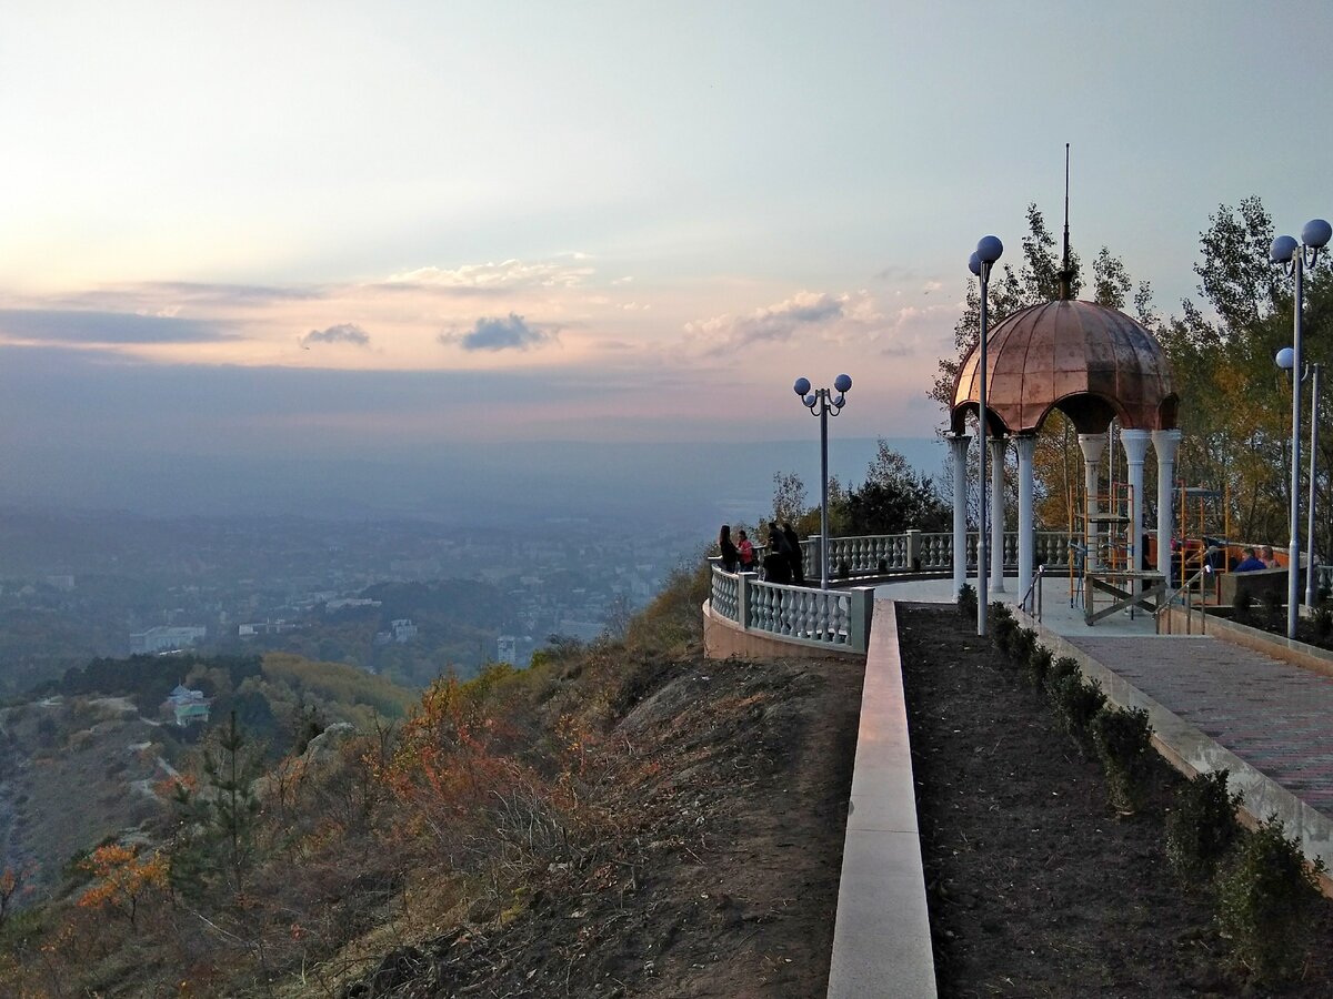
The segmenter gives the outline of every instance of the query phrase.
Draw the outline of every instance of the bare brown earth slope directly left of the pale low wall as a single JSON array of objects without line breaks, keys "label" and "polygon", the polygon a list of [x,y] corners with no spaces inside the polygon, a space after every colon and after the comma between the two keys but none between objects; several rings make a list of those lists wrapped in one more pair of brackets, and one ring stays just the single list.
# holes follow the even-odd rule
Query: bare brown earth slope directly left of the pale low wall
[{"label": "bare brown earth slope directly left of the pale low wall", "polygon": [[641,677],[612,729],[633,779],[600,835],[507,911],[401,947],[347,999],[822,995],[862,670],[690,658]]}]

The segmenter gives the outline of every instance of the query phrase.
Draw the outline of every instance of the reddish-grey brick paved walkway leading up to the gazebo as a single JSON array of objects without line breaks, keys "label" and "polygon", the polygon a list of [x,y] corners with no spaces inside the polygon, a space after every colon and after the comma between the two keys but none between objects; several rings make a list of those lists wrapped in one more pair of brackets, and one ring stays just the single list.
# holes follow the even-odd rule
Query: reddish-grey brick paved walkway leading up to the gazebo
[{"label": "reddish-grey brick paved walkway leading up to the gazebo", "polygon": [[1065,638],[1333,818],[1333,678],[1217,638]]}]

